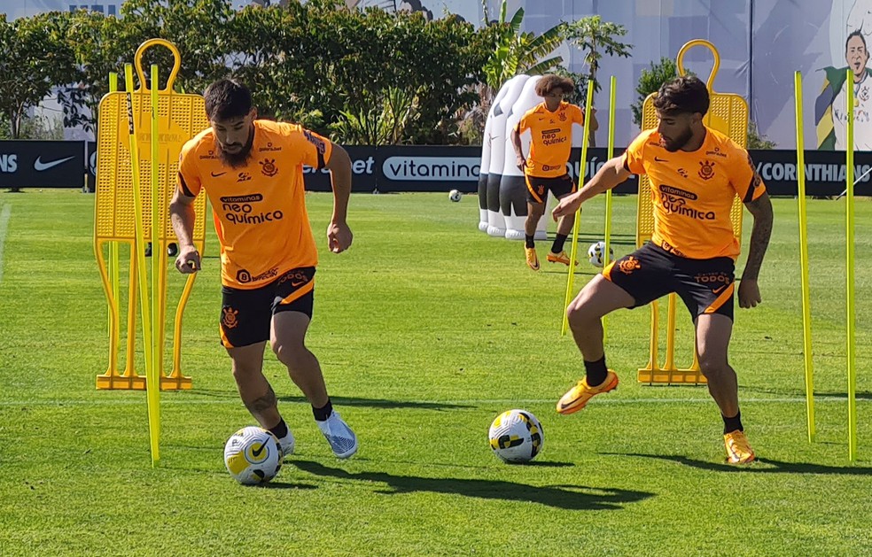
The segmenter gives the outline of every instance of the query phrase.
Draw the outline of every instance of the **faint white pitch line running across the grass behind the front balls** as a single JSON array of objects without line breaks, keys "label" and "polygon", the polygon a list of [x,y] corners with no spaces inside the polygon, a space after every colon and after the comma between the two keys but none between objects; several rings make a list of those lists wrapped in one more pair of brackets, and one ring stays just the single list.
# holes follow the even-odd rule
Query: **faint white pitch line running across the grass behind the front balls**
[{"label": "faint white pitch line running across the grass behind the front balls", "polygon": [[[145,393],[143,393],[142,398],[118,398],[118,399],[109,399],[109,400],[100,400],[100,399],[56,399],[56,400],[0,400],[0,407],[2,406],[125,406],[125,405],[139,405],[145,403]],[[341,406],[342,398],[337,398],[339,400],[339,405]],[[833,397],[827,396],[822,397],[820,395],[814,397],[814,402],[845,402],[845,397]],[[386,402],[390,402],[385,400]],[[439,406],[439,405],[475,405],[475,406],[483,406],[483,405],[492,405],[492,404],[502,404],[502,405],[522,405],[522,404],[551,404],[554,400],[551,398],[493,398],[493,399],[478,399],[478,400],[397,400],[397,406]],[[744,403],[766,403],[766,402],[775,402],[779,404],[805,404],[806,399],[802,397],[792,397],[792,398],[741,398],[741,402]],[[859,403],[867,403],[870,402],[867,398],[858,398],[857,402]],[[302,400],[300,400],[302,403]],[[597,399],[596,406],[602,405],[628,405],[628,404],[711,404],[711,398],[605,398]],[[184,405],[184,404],[235,404],[239,405],[242,402],[235,398],[163,398],[160,401],[161,405]],[[380,403],[383,404],[383,403]],[[367,406],[365,402],[360,404],[351,405],[345,404],[345,406]]]}]

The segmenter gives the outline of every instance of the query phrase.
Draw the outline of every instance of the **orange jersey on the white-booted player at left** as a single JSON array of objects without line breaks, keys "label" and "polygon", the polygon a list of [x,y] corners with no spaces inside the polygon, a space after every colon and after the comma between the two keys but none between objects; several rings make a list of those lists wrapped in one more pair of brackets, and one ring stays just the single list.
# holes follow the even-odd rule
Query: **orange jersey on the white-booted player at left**
[{"label": "orange jersey on the white-booted player at left", "polygon": [[231,168],[219,159],[212,128],[184,144],[178,188],[206,190],[221,244],[222,284],[254,289],[318,262],[303,188],[303,165],[321,168],[332,143],[297,124],[254,120],[251,156]]}]

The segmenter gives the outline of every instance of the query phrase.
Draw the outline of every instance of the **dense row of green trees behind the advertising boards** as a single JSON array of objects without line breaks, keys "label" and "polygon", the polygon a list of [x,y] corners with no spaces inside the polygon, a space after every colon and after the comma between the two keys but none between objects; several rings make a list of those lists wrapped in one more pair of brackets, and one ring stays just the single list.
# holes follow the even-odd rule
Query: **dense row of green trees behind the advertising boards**
[{"label": "dense row of green trees behind the advertising boards", "polygon": [[[397,143],[450,143],[458,115],[480,103],[495,44],[507,42],[513,72],[545,67],[541,54],[557,45],[557,32],[518,33],[521,17],[477,29],[457,17],[347,10],[335,0],[241,11],[231,0],[127,0],[117,18],[82,10],[4,20],[0,48],[12,56],[0,59],[0,114],[17,120],[55,87],[65,123],[87,128],[108,92],[109,73],[119,73],[124,89],[124,64],[134,62],[137,47],[163,38],[181,54],[176,90],[199,93],[232,75],[251,87],[266,117],[336,135],[354,135],[354,119],[391,120],[391,132],[382,135]],[[152,48],[143,58],[145,79],[155,63],[158,86],[166,88],[171,53]],[[404,118],[397,112],[401,99],[414,107]]]}]

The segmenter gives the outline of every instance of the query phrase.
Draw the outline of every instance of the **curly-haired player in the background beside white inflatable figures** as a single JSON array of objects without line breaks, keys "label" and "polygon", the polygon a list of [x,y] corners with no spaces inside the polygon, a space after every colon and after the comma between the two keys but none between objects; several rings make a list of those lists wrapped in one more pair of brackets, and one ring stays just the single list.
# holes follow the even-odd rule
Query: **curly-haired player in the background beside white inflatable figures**
[{"label": "curly-haired player in the background beside white inflatable figures", "polygon": [[[527,185],[527,218],[524,222],[527,267],[539,270],[539,256],[533,236],[539,220],[545,213],[548,192],[562,199],[575,191],[575,182],[567,172],[566,163],[572,150],[572,124],[584,124],[584,111],[564,97],[575,90],[571,79],[559,75],[541,76],[536,83],[536,95],[544,99],[527,111],[518,127],[511,130],[511,143],[515,148],[518,168],[524,173]],[[596,119],[590,119],[596,129]],[[521,134],[530,130],[530,153],[524,156]],[[575,223],[575,214],[567,214],[557,225],[557,236],[551,244],[547,259],[551,263],[569,265],[569,256],[564,251],[566,237]],[[578,262],[576,262],[578,265]]]}]

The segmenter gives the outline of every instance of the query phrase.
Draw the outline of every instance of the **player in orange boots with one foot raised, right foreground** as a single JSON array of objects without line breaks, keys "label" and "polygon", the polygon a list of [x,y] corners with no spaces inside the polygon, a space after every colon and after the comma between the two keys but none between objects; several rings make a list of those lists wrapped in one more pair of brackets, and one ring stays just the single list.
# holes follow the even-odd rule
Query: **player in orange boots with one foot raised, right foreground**
[{"label": "player in orange boots with one foot raised, right foreground", "polygon": [[567,309],[587,376],[560,398],[557,412],[572,414],[591,397],[618,386],[618,376],[605,365],[603,315],[621,307],[645,306],[676,292],[696,328],[699,366],[720,407],[728,461],[750,462],[754,452],[742,427],[736,372],[728,363],[739,255],[729,213],[738,196],[754,218],[738,288],[739,306],[754,307],[760,303],[757,279],[772,232],[772,205],[748,152],[703,125],[709,95],[702,81],[697,77],[667,81],[654,105],[658,128],[638,135],[623,155],[608,161],[552,213],[555,219],[572,214],[631,174],[650,178],[651,242],[611,263]]}]

